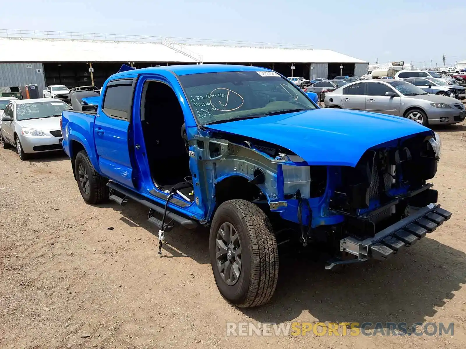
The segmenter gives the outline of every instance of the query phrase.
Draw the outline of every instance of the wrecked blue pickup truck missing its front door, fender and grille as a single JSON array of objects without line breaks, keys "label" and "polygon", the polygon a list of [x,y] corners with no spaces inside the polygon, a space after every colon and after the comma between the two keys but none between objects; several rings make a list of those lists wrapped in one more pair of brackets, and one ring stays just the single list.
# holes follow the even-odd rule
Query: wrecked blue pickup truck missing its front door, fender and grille
[{"label": "wrecked blue pickup truck missing its front door, fender and grille", "polygon": [[63,148],[84,201],[134,200],[164,235],[210,228],[220,293],[269,301],[278,246],[329,255],[326,268],[385,260],[451,213],[428,183],[438,134],[397,116],[319,108],[260,67],[124,71],[98,106],[63,111]]}]

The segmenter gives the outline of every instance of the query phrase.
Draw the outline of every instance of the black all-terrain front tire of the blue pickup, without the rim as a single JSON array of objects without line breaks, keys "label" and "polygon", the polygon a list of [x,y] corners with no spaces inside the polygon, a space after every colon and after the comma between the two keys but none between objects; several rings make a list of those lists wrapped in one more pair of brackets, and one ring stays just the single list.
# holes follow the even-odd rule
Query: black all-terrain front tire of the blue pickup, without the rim
[{"label": "black all-terrain front tire of the blue pickup, without the rim", "polygon": [[[216,257],[217,234],[224,223],[236,229],[242,251],[240,275],[232,286],[222,278]],[[278,279],[278,248],[272,224],[258,206],[246,200],[223,202],[212,219],[209,250],[215,282],[228,302],[250,308],[272,298]]]}]

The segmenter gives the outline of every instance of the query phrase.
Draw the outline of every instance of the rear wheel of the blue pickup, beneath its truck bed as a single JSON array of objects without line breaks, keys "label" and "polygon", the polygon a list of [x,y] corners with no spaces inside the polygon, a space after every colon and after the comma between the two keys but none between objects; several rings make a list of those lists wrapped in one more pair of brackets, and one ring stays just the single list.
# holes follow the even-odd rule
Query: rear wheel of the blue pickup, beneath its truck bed
[{"label": "rear wheel of the blue pickup, beneath its truck bed", "polygon": [[76,154],[75,175],[81,196],[88,204],[98,204],[108,198],[107,180],[96,172],[84,150]]}]

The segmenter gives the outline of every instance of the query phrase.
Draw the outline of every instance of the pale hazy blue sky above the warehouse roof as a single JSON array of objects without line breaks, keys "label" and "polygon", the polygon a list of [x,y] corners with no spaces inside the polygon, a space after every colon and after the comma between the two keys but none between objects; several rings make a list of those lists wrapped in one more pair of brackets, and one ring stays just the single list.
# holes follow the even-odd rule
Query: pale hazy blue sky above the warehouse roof
[{"label": "pale hazy blue sky above the warehouse roof", "polygon": [[[283,42],[418,67],[466,60],[462,2],[4,1],[0,28]],[[456,14],[458,13],[458,14]]]}]

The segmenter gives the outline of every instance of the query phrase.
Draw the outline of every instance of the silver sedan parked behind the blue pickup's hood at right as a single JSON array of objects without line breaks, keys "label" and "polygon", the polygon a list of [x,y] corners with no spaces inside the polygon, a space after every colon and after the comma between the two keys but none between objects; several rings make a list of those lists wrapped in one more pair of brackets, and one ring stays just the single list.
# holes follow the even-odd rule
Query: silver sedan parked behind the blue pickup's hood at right
[{"label": "silver sedan parked behind the blue pickup's hood at right", "polygon": [[402,80],[366,80],[325,94],[325,107],[366,110],[414,120],[422,125],[456,124],[465,119],[465,106],[445,96],[428,94]]}]

